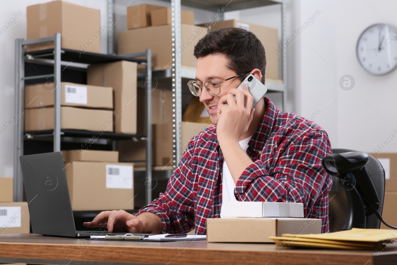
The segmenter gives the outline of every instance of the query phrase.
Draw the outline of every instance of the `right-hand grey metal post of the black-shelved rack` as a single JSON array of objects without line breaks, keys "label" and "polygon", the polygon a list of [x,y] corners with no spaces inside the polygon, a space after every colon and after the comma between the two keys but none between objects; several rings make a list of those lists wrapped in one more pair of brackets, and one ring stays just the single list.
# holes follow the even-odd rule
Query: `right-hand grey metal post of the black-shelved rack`
[{"label": "right-hand grey metal post of the black-shelved rack", "polygon": [[[146,205],[152,202],[152,50],[146,49]],[[147,183],[147,185],[146,185]]]}]

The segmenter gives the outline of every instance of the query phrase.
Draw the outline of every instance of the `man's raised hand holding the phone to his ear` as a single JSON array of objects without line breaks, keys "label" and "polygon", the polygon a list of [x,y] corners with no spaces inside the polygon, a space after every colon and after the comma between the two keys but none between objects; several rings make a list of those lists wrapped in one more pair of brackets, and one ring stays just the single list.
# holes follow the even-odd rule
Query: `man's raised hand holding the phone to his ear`
[{"label": "man's raised hand holding the phone to his ear", "polygon": [[[249,93],[247,85],[243,85],[243,90],[230,89],[225,96],[220,98],[218,103],[219,119],[216,126],[220,144],[227,141],[238,141],[239,137],[247,132],[255,111],[252,108],[253,101],[254,98]],[[225,103],[227,106],[224,105]]]}]

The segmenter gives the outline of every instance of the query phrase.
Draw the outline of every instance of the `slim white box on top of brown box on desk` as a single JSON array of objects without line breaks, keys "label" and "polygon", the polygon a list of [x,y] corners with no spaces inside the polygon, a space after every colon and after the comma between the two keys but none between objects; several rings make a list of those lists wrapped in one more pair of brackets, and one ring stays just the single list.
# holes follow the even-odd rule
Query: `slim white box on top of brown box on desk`
[{"label": "slim white box on top of brown box on desk", "polygon": [[303,203],[270,201],[229,201],[222,208],[224,217],[304,217]]}]

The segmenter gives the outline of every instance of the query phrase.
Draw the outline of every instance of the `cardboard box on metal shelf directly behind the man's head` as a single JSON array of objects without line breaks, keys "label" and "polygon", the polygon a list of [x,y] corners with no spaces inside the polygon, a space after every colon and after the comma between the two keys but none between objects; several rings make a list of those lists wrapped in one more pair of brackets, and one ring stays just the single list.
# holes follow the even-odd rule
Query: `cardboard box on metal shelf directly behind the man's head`
[{"label": "cardboard box on metal shelf directly behind the man's head", "polygon": [[267,66],[265,71],[265,79],[279,79],[277,56],[277,51],[279,47],[277,29],[233,19],[217,21],[214,25],[210,25],[210,31],[214,31],[215,29],[221,29],[224,27],[239,27],[247,29],[248,31],[254,33],[256,37],[258,37],[258,39],[262,42],[266,52]]}]

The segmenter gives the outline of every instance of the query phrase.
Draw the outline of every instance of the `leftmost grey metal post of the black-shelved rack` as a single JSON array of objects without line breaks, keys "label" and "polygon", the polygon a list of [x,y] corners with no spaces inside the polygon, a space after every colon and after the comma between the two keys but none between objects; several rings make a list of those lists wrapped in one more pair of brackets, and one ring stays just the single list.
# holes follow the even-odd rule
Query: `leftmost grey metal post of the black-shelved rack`
[{"label": "leftmost grey metal post of the black-shelved rack", "polygon": [[13,184],[14,184],[14,196],[13,201],[23,201],[23,180],[21,166],[19,163],[19,156],[23,155],[23,126],[24,126],[24,61],[23,54],[24,48],[22,46],[23,39],[15,40],[15,114],[21,111],[21,116],[18,122],[14,126],[15,138],[14,138],[14,174],[13,174]]}]

